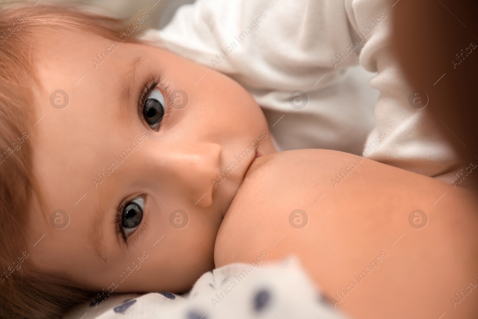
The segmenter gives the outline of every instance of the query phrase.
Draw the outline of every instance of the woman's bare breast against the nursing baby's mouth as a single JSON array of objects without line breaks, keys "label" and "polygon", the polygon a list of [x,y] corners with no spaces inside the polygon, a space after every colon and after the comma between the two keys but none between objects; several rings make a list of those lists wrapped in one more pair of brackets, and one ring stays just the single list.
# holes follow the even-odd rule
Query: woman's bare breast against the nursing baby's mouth
[{"label": "woman's bare breast against the nursing baby's mouth", "polygon": [[[295,209],[308,215],[302,229],[289,222]],[[428,216],[421,229],[414,209]],[[467,189],[352,154],[275,153],[255,160],[228,209],[216,266],[294,254],[352,318],[476,318],[477,211]]]}]

